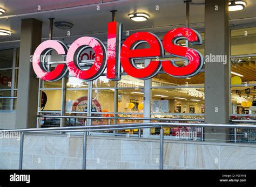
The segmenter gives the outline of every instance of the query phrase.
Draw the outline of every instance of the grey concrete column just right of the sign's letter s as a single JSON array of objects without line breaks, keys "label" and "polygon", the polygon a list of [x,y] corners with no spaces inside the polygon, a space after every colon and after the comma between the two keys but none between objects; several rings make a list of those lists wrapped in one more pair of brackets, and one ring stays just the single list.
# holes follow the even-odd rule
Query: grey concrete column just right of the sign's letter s
[{"label": "grey concrete column just right of the sign's letter s", "polygon": [[[229,121],[228,0],[205,1],[205,122]],[[219,56],[221,55],[221,56]],[[215,57],[215,59],[214,59]],[[222,59],[221,59],[222,57]],[[226,59],[226,61],[225,61]],[[227,140],[228,129],[205,128],[205,139]],[[207,134],[210,133],[210,134]],[[223,133],[223,134],[218,134]],[[213,140],[210,140],[213,141]],[[219,141],[218,141],[219,142]]]}]

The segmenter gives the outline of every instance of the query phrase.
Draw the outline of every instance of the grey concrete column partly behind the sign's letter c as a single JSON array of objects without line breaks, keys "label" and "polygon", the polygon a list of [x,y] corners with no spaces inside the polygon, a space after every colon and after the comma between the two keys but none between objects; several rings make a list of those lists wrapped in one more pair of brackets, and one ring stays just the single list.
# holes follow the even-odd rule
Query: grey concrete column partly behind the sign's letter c
[{"label": "grey concrete column partly behind the sign's letter c", "polygon": [[30,55],[41,43],[41,38],[42,21],[22,19],[15,128],[36,127],[38,78],[35,77]]}]

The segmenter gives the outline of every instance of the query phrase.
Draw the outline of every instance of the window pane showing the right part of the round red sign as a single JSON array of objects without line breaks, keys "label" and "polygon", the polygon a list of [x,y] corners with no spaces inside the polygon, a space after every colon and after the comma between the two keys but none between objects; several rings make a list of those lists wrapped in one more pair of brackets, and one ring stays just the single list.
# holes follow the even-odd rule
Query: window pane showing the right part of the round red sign
[{"label": "window pane showing the right part of the round red sign", "polygon": [[114,112],[114,89],[92,90],[92,112]]}]

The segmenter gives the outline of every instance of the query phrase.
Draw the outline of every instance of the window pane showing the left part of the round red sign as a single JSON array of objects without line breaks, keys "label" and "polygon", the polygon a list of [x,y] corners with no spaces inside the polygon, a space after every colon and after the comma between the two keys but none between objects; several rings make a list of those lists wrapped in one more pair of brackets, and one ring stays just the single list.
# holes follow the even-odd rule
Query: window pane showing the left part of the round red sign
[{"label": "window pane showing the left part of the round red sign", "polygon": [[87,90],[66,91],[66,112],[87,112]]}]

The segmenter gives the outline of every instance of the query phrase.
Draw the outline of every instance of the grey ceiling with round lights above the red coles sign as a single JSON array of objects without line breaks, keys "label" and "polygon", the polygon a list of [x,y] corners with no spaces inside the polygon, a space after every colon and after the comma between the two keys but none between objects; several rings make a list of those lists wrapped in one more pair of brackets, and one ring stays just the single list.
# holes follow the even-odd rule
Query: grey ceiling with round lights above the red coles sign
[{"label": "grey ceiling with round lights above the red coles sign", "polygon": [[[204,1],[192,1],[192,3],[201,2]],[[256,1],[247,0],[246,2],[247,6],[244,10],[230,12],[230,25],[256,25]],[[99,10],[97,10],[97,5],[99,5]],[[159,10],[156,10],[156,6],[159,6]],[[0,17],[0,28],[12,31],[11,36],[0,36],[0,48],[18,44],[21,20],[26,18],[43,21],[43,39],[48,38],[49,18],[55,18],[55,21],[71,22],[74,25],[70,30],[71,36],[67,36],[66,30],[53,28],[53,39],[64,40],[68,43],[82,35],[91,35],[105,41],[107,22],[111,21],[110,10],[118,11],[117,21],[123,24],[123,31],[129,30],[130,34],[141,30],[165,33],[172,27],[185,26],[186,23],[183,0],[103,0],[102,3],[100,0],[1,0],[0,7],[6,10],[5,14]],[[150,19],[139,23],[134,22],[127,16],[132,12],[149,13]],[[6,17],[9,18],[6,19]],[[241,18],[246,19],[241,20]],[[204,5],[191,4],[190,22],[192,28],[204,28]]]}]

